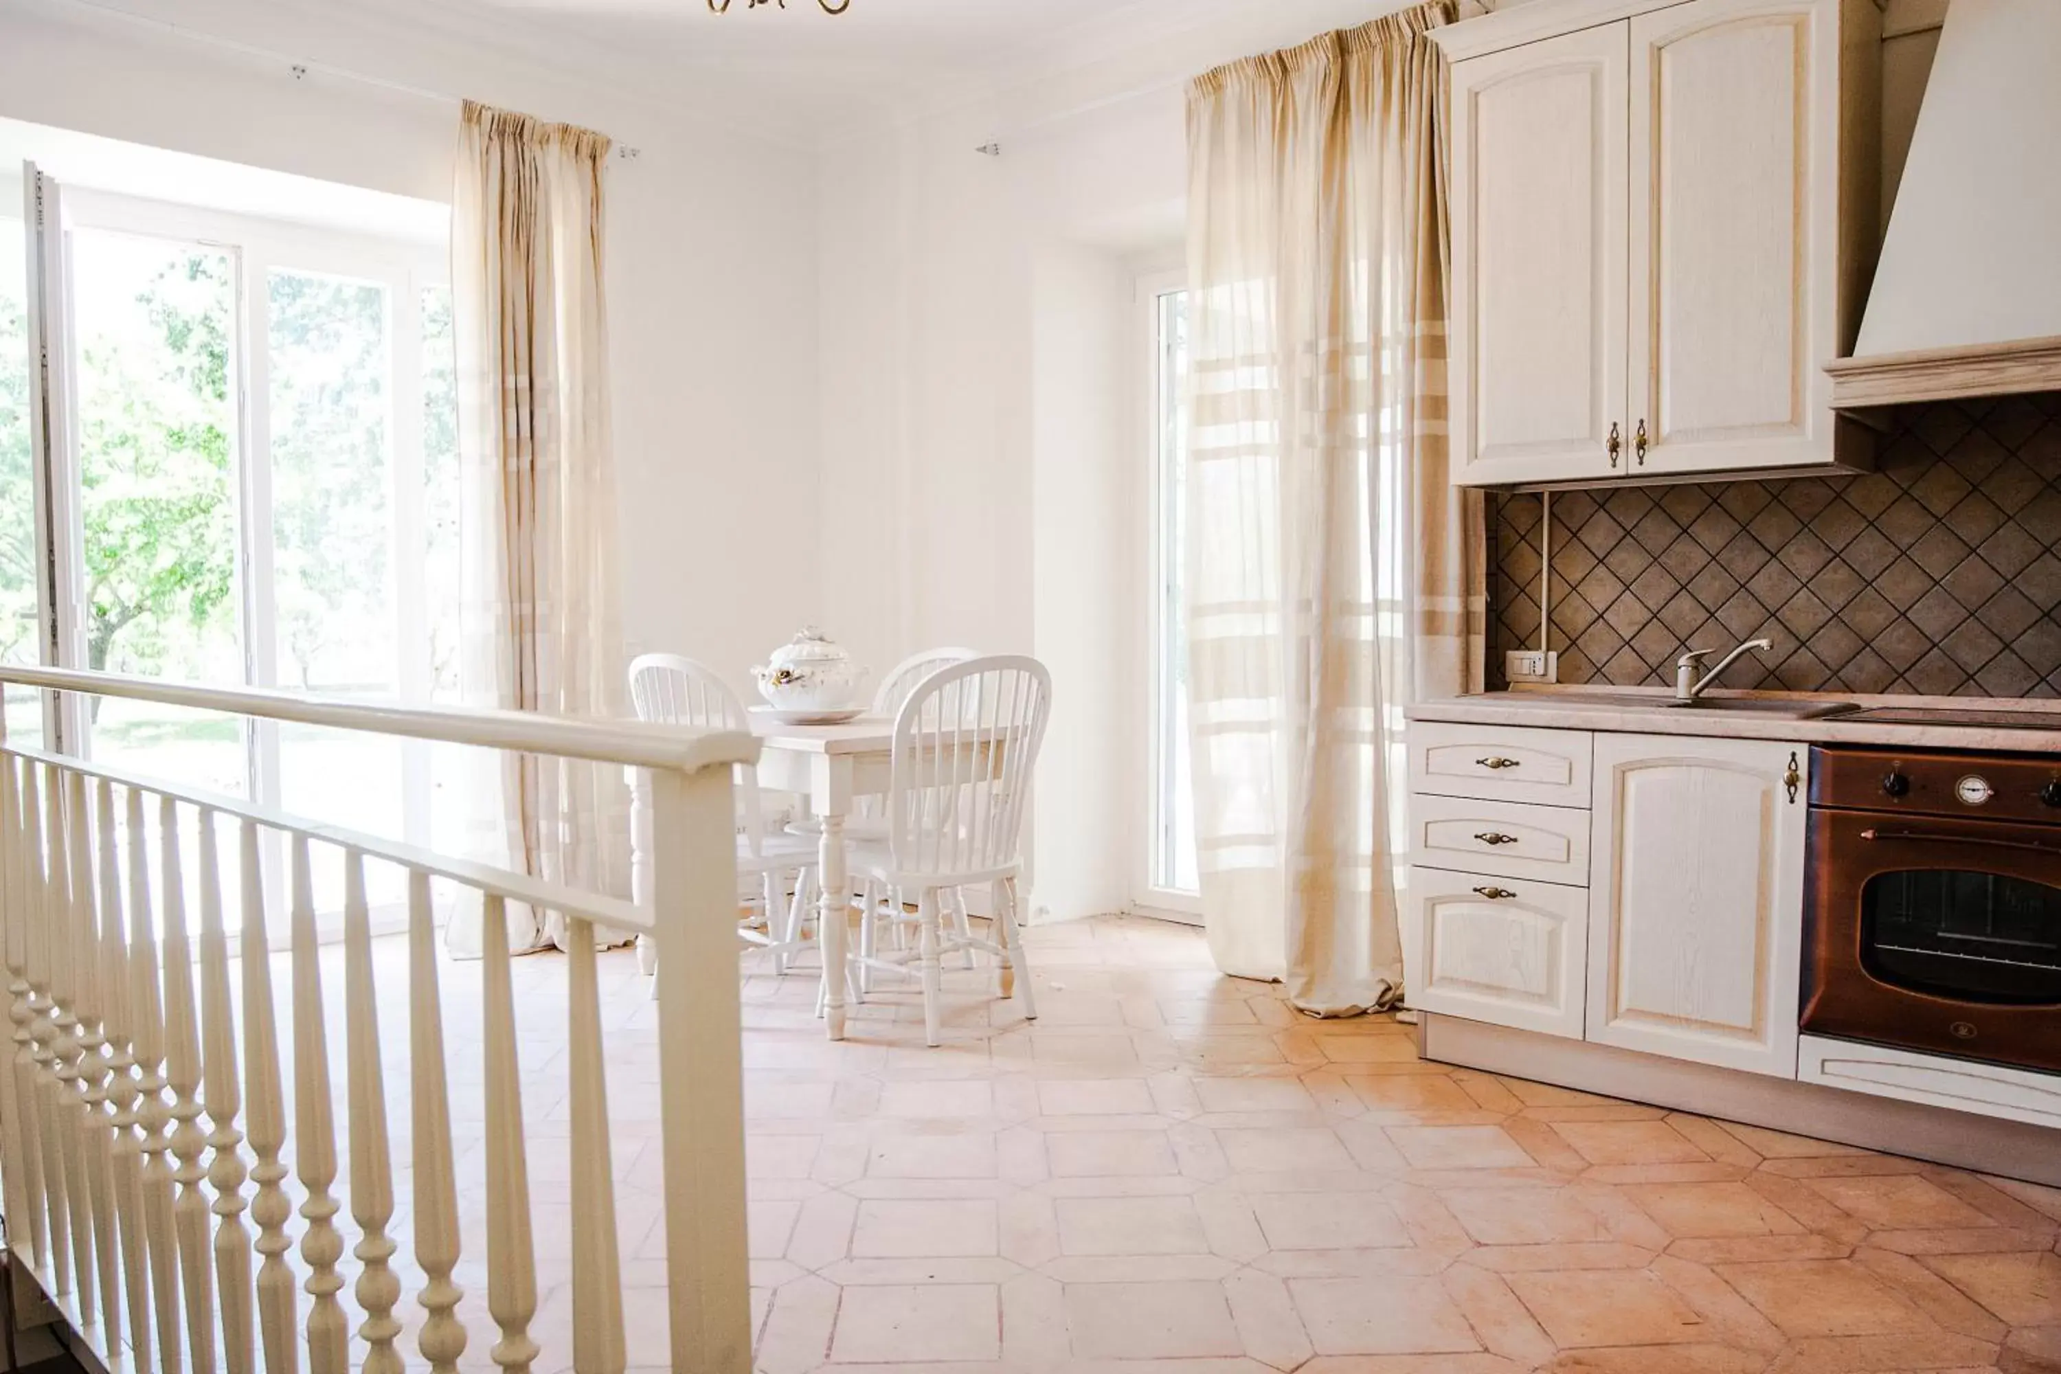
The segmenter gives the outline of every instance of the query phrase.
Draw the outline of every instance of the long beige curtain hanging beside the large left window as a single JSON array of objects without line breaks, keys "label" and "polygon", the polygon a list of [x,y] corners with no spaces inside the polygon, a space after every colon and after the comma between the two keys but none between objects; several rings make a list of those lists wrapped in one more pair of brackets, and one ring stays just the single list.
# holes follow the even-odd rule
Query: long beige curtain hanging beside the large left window
[{"label": "long beige curtain hanging beside the large left window", "polygon": [[[602,171],[608,138],[466,103],[451,200],[468,705],[622,713],[616,478],[608,426]],[[536,878],[629,892],[618,768],[503,756],[474,779],[476,849]],[[563,943],[509,913],[515,950]],[[526,937],[528,935],[528,937]],[[478,913],[455,913],[478,954]]]}]

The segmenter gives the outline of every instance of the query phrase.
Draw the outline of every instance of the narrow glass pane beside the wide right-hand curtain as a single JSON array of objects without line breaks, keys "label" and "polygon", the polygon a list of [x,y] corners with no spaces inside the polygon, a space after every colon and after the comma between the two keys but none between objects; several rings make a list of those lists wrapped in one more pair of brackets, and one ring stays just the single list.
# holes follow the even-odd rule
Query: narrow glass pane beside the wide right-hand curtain
[{"label": "narrow glass pane beside the wide right-hand curtain", "polygon": [[1195,892],[1195,799],[1187,748],[1187,293],[1158,299],[1158,826],[1154,884]]}]

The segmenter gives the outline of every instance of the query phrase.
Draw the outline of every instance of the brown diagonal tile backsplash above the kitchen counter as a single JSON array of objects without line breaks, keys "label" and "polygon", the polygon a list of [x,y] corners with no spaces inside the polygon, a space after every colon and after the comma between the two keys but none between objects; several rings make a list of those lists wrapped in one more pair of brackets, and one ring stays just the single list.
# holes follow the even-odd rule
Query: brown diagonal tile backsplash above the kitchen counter
[{"label": "brown diagonal tile backsplash above the kitchen counter", "polygon": [[[1490,531],[1500,686],[1538,645],[1540,496]],[[1552,573],[1564,684],[1766,637],[1723,686],[2061,696],[2061,393],[1906,406],[1865,476],[1556,492]]]}]

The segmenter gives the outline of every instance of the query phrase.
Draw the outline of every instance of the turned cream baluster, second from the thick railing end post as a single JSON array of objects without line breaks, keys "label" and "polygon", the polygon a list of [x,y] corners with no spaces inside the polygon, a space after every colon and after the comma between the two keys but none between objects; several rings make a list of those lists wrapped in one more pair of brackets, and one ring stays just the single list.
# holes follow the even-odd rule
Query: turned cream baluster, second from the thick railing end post
[{"label": "turned cream baluster, second from the thick railing end post", "polygon": [[507,902],[488,894],[480,913],[486,1018],[486,1310],[501,1327],[493,1362],[530,1374],[538,1347],[536,1255],[530,1240],[530,1164],[523,1154],[521,1069],[515,1059],[515,991],[509,976]]}]

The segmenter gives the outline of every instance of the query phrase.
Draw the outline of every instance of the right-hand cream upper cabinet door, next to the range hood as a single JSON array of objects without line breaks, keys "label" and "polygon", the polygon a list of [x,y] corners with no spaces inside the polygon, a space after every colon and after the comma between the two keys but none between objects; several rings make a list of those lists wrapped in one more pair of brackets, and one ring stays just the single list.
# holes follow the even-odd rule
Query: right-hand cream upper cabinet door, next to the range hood
[{"label": "right-hand cream upper cabinet door, next to the range hood", "polygon": [[1828,463],[1838,0],[1690,0],[1630,51],[1630,470]]}]

